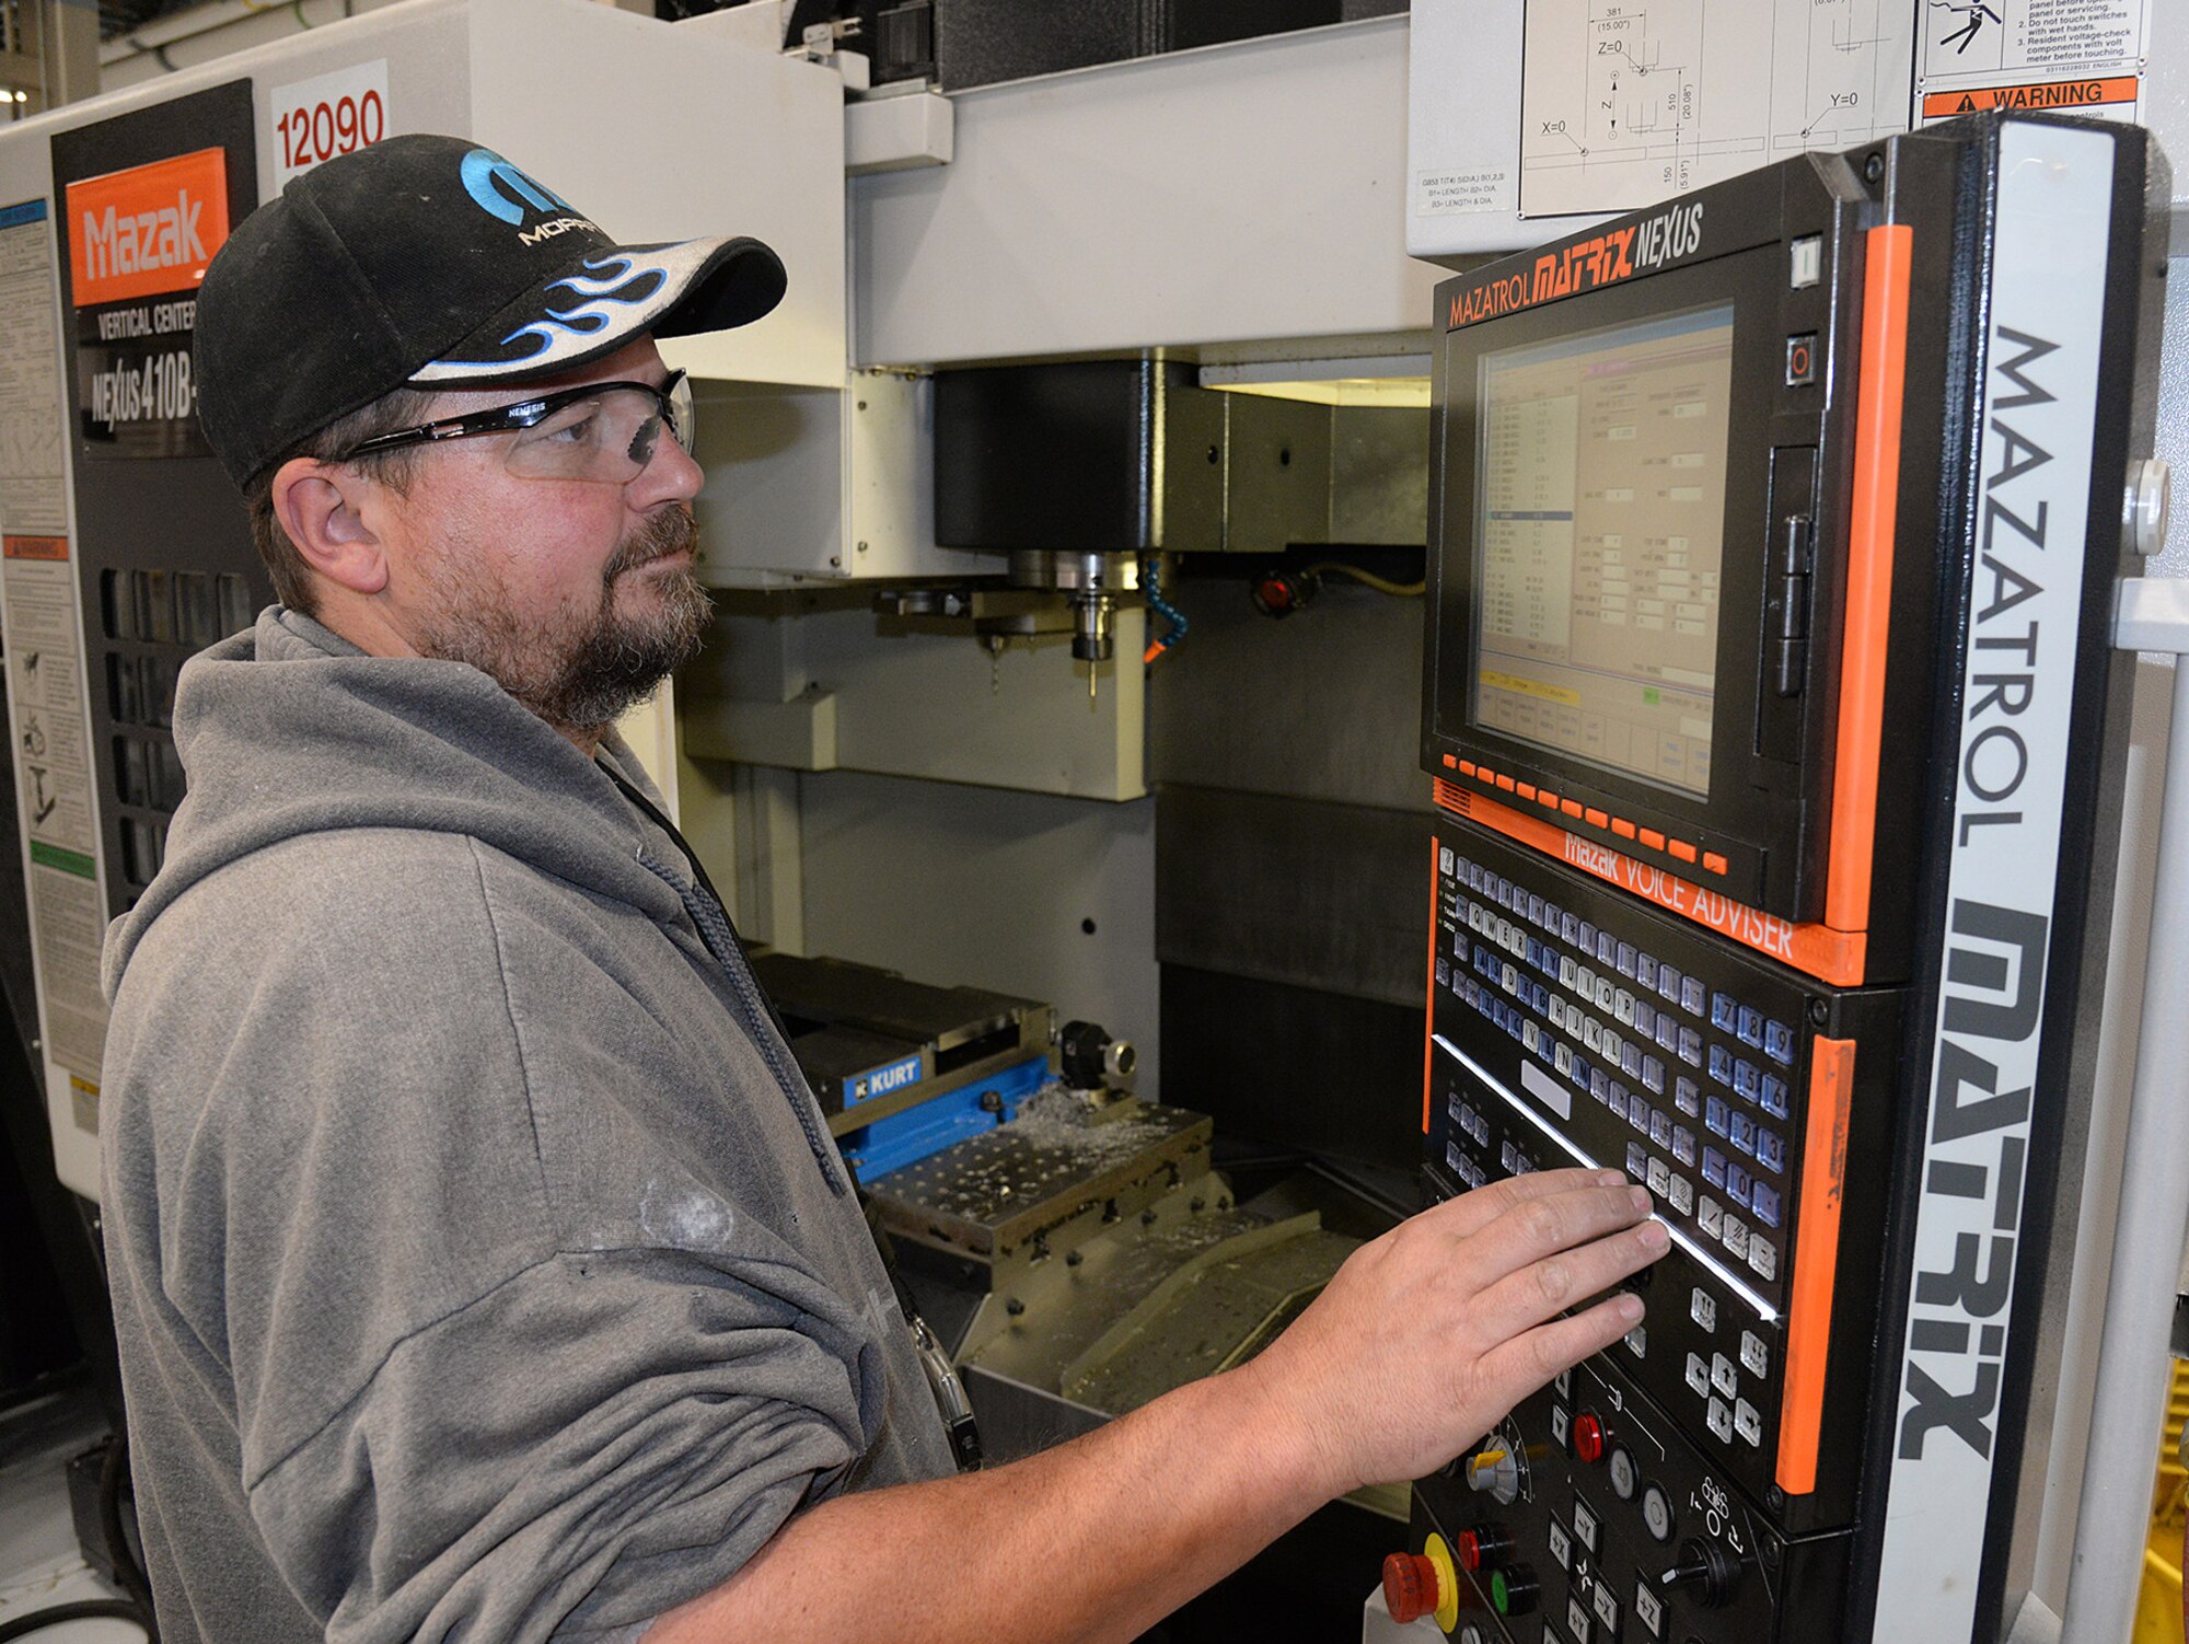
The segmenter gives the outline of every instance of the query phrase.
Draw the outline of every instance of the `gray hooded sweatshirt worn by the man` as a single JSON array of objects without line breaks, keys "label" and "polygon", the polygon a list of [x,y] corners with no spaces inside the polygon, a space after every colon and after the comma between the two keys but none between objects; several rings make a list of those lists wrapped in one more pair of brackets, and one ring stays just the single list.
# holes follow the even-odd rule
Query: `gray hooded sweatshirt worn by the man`
[{"label": "gray hooded sweatshirt worn by the man", "polygon": [[720,908],[593,762],[278,606],[175,740],[103,1095],[169,1644],[635,1637],[950,1471]]}]

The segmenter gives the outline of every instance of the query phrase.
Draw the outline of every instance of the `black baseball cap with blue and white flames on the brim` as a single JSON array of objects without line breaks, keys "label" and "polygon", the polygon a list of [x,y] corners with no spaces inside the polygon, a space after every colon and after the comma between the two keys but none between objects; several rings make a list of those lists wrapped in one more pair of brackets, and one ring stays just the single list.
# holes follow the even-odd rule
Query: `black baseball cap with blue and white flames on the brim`
[{"label": "black baseball cap with blue and white flames on the brim", "polygon": [[760,320],[784,265],[755,239],[617,245],[493,149],[398,136],[245,217],[197,293],[197,416],[236,486],[396,387],[488,387],[641,333]]}]

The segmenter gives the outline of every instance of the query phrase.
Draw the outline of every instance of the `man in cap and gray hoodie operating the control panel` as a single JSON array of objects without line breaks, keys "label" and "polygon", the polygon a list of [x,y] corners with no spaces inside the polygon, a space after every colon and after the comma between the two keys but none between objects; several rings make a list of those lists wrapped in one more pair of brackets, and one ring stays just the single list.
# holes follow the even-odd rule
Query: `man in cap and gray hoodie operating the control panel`
[{"label": "man in cap and gray hoodie operating the control panel", "polygon": [[107,946],[171,1644],[1125,1640],[1640,1318],[1587,1298],[1664,1250],[1646,1195],[1532,1176],[1366,1246],[1252,1364],[952,1475],[843,1160],[611,729],[707,615],[652,337],[781,285],[429,136],[291,182],[206,276],[204,422],[282,604],[184,670],[190,795]]}]

